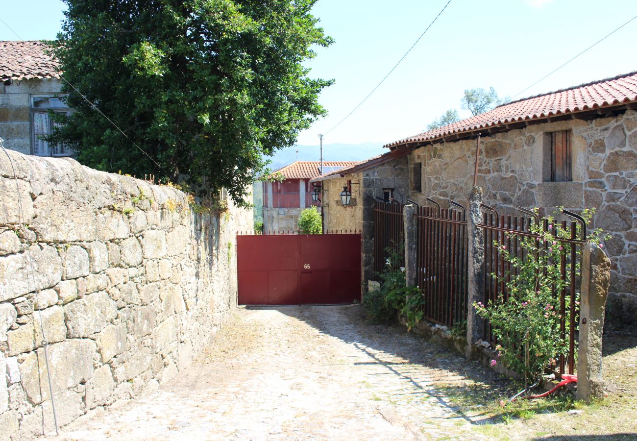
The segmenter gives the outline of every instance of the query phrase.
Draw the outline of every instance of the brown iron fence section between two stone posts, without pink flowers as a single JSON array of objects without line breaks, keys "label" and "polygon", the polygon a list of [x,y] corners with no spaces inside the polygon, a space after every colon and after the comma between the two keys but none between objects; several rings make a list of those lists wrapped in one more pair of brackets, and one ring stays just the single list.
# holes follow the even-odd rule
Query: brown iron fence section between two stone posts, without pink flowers
[{"label": "brown iron fence section between two stone posts, without pink flowers", "polygon": [[467,220],[462,211],[423,206],[416,217],[416,286],[426,301],[424,318],[454,326],[466,321]]}]

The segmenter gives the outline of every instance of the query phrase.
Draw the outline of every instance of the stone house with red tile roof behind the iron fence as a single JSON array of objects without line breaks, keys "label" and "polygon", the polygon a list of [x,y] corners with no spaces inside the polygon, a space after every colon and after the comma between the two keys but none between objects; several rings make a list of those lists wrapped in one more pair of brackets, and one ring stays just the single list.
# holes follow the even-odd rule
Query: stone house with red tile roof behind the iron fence
[{"label": "stone house with red tile roof behind the iron fence", "polygon": [[[476,138],[481,136],[477,185],[485,203],[500,214],[520,215],[517,206],[552,213],[557,206],[574,211],[596,208],[594,228],[612,261],[610,309],[637,315],[637,72],[520,99],[471,118],[385,145],[403,152],[394,170],[407,198],[443,208],[449,200],[466,205],[473,187]],[[368,163],[373,163],[371,159]],[[364,163],[357,164],[361,170]],[[386,173],[389,163],[376,167]],[[384,169],[384,170],[383,170]],[[331,176],[360,181],[351,170]],[[367,169],[365,173],[373,173]],[[326,180],[328,177],[320,177]],[[378,196],[378,192],[363,194]],[[378,182],[378,181],[376,181]],[[342,182],[339,182],[340,185]],[[362,211],[371,211],[364,202]],[[335,213],[349,210],[352,215]],[[326,228],[369,231],[371,213],[330,207]],[[373,233],[372,233],[373,234]],[[366,271],[366,275],[369,270]]]}]

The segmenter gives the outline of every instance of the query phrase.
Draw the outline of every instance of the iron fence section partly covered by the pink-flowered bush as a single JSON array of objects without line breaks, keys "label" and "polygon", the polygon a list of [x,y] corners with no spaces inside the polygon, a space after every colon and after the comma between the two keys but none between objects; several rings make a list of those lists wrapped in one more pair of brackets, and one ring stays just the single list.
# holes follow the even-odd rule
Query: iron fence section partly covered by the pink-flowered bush
[{"label": "iron fence section partly covered by the pink-flowered bush", "polygon": [[[480,225],[483,229],[484,242],[485,242],[485,259],[484,259],[484,300],[485,304],[489,301],[506,301],[509,297],[507,290],[507,284],[510,283],[512,277],[515,278],[518,275],[519,268],[512,266],[512,264],[505,259],[503,253],[495,243],[505,245],[508,252],[513,257],[519,257],[522,261],[526,259],[529,252],[528,249],[521,247],[522,238],[524,236],[536,238],[540,247],[548,249],[550,246],[548,242],[542,240],[543,236],[531,233],[531,222],[538,222],[541,224],[543,231],[548,231],[548,220],[542,219],[538,216],[534,217],[512,217],[498,215],[497,212],[488,206],[484,206],[487,210],[491,210],[492,213],[485,213],[483,217],[483,223]],[[529,212],[531,213],[531,212]],[[572,215],[573,213],[571,213]],[[581,236],[577,237],[577,222],[556,222],[553,240],[559,243],[559,246],[563,249],[559,263],[560,273],[562,277],[562,283],[564,288],[559,293],[554,293],[555,298],[559,298],[559,314],[560,319],[560,337],[562,339],[568,338],[569,351],[566,356],[560,356],[557,359],[557,366],[555,369],[550,369],[557,374],[570,373],[575,370],[576,361],[576,338],[577,338],[577,323],[579,321],[579,308],[576,304],[576,293],[578,292],[578,285],[580,284],[579,278],[576,276],[576,266],[578,264],[578,256],[582,244],[585,243],[585,226],[583,221],[580,220]],[[564,236],[560,237],[557,229],[566,232]],[[563,246],[568,245],[568,246]],[[557,246],[557,245],[555,245]],[[568,252],[567,252],[568,250]],[[543,274],[538,273],[536,284],[539,283]],[[568,276],[568,277],[567,277]],[[567,280],[568,278],[568,280]],[[568,297],[568,304],[567,304]],[[569,314],[566,314],[568,308]],[[567,321],[568,316],[568,321]],[[492,333],[492,328],[489,322],[485,322],[485,331],[483,340],[486,340],[493,345],[497,343],[496,338]],[[567,372],[568,371],[568,372]]]}]

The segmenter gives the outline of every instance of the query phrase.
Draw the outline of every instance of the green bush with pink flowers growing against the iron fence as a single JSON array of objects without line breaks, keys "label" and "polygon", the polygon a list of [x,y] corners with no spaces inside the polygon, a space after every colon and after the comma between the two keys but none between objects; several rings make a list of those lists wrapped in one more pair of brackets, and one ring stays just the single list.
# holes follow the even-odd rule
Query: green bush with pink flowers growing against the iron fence
[{"label": "green bush with pink flowers growing against the iron fence", "polygon": [[[537,212],[537,209],[536,209]],[[557,212],[556,212],[557,213]],[[588,224],[594,210],[584,210],[582,217]],[[570,238],[570,231],[559,228],[554,217],[549,216],[548,229],[533,222],[529,232],[533,236],[520,236],[510,231],[509,238],[517,238],[524,250],[524,258],[515,255],[506,245],[494,242],[501,256],[510,263],[510,270],[498,278],[506,283],[506,300],[474,303],[476,312],[487,319],[499,344],[496,346],[496,359],[491,365],[503,363],[506,368],[524,375],[525,380],[536,379],[547,366],[555,366],[556,358],[566,356],[569,351],[568,332],[561,336],[560,326],[564,320],[571,319],[567,307],[560,312],[559,293],[566,292],[566,305],[571,304],[568,295],[571,266],[566,265],[566,275],[562,277],[560,263],[562,256],[569,256],[571,244],[561,239]],[[578,224],[577,237],[581,236]],[[590,231],[586,240],[599,244],[601,229]],[[601,245],[603,246],[603,245]],[[576,247],[575,275],[580,275],[580,249]],[[576,294],[575,305],[579,305]],[[562,317],[565,315],[565,317]]]}]

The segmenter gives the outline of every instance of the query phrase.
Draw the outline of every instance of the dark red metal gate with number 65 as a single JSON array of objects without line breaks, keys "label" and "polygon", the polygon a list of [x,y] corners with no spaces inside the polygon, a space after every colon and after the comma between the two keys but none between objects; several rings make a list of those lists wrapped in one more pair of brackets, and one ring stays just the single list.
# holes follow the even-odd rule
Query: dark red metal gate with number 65
[{"label": "dark red metal gate with number 65", "polygon": [[237,235],[239,305],[361,300],[361,235]]}]

